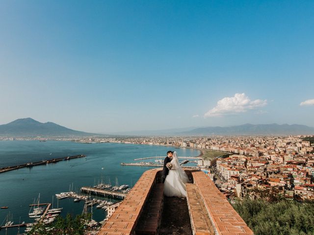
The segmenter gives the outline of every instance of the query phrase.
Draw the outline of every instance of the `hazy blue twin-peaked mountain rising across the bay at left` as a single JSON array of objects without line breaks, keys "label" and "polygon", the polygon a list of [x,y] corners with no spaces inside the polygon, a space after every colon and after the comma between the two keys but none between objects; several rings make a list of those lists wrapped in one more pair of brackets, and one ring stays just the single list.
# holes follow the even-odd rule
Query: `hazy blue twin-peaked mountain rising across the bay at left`
[{"label": "hazy blue twin-peaked mountain rising across the bay at left", "polygon": [[0,136],[90,136],[91,133],[75,131],[53,122],[42,123],[32,118],[20,118],[0,125]]}]

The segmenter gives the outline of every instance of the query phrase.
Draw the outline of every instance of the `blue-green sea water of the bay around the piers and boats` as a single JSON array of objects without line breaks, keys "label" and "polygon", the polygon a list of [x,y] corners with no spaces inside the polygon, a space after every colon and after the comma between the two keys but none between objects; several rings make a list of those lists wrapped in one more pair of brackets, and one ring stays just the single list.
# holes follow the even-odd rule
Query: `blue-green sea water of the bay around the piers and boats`
[{"label": "blue-green sea water of the bay around the piers and boats", "polygon": [[[74,199],[57,200],[56,193],[73,191],[80,192],[83,186],[92,187],[99,183],[111,185],[129,185],[131,188],[142,173],[153,166],[129,166],[124,163],[134,163],[134,159],[156,157],[140,160],[155,162],[163,159],[168,150],[177,151],[178,156],[196,157],[200,151],[191,148],[174,148],[163,145],[129,144],[129,143],[78,143],[73,141],[0,141],[0,168],[11,165],[39,162],[53,158],[61,158],[84,154],[86,157],[60,161],[55,164],[21,168],[0,173],[0,225],[6,222],[7,216],[14,224],[31,223],[28,217],[29,204],[37,201],[52,203],[53,208],[63,208],[61,216],[70,213],[73,217],[81,214],[84,202],[74,203]],[[158,158],[160,157],[160,158]],[[161,158],[162,157],[162,158]],[[137,162],[140,162],[137,161]],[[189,164],[193,165],[193,163]],[[104,199],[104,197],[91,198]],[[108,198],[115,202],[117,199]],[[93,207],[93,219],[100,222],[106,213]],[[24,228],[9,228],[0,230],[0,235],[17,235],[24,233]]]}]

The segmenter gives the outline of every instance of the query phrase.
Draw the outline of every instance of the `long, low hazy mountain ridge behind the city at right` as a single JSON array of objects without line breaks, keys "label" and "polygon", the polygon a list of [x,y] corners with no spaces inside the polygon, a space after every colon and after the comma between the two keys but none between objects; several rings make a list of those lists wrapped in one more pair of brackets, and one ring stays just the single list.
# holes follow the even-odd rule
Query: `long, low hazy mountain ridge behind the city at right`
[{"label": "long, low hazy mountain ridge behind the city at right", "polygon": [[184,136],[212,136],[212,135],[313,135],[314,128],[305,125],[273,124],[244,124],[229,127],[202,127],[190,131],[177,133]]}]

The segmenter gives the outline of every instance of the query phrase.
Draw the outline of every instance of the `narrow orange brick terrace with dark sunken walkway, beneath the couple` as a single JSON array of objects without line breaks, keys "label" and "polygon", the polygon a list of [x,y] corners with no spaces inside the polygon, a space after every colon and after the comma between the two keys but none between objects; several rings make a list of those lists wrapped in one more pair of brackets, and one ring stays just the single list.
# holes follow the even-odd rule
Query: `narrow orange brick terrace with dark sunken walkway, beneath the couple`
[{"label": "narrow orange brick terrace with dark sunken walkway, beneath the couple", "polygon": [[98,235],[253,235],[203,171],[185,171],[186,199],[163,195],[161,169],[145,171]]}]

